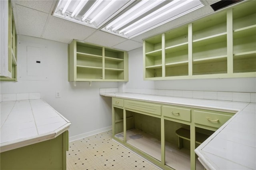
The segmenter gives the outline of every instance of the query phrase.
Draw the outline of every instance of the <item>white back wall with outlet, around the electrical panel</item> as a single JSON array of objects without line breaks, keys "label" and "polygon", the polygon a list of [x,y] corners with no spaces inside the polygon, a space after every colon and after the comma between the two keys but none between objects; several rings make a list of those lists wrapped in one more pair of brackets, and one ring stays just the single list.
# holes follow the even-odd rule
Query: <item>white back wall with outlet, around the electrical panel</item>
[{"label": "white back wall with outlet, around the electrical panel", "polygon": [[[40,43],[48,46],[47,80],[19,80],[18,82],[1,81],[1,94],[40,92],[41,98],[71,121],[70,136],[76,136],[92,130],[112,125],[111,98],[101,97],[99,88],[117,88],[116,82],[68,82],[68,44],[18,36],[18,40]],[[22,56],[19,55],[18,59]],[[24,65],[18,65],[24,67]],[[26,69],[26,68],[23,68]],[[60,91],[61,98],[55,97]]]}]

